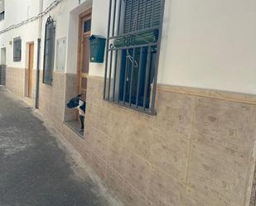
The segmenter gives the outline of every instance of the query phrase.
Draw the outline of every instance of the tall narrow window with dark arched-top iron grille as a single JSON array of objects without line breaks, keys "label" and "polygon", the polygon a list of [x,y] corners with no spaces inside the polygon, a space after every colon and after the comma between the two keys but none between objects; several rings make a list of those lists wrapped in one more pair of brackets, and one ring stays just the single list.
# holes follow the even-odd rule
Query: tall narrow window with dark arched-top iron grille
[{"label": "tall narrow window with dark arched-top iron grille", "polygon": [[56,26],[51,17],[46,21],[43,83],[52,84]]}]

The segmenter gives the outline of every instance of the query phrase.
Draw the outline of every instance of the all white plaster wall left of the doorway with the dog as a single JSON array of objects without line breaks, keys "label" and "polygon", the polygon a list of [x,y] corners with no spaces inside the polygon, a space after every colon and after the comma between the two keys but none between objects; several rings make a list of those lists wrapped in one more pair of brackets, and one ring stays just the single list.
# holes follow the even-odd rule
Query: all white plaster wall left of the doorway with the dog
[{"label": "all white plaster wall left of the doorway with the dog", "polygon": [[[9,26],[17,25],[23,21],[27,21],[31,17],[36,17],[40,14],[40,3],[42,2],[42,11],[46,11],[46,8],[50,7],[52,3],[59,2],[55,0],[25,0],[16,1],[9,0],[5,3],[6,17],[4,21],[0,22],[0,31],[6,29]],[[79,7],[80,6],[80,7]],[[0,34],[0,48],[6,48],[7,52],[7,66],[15,68],[27,68],[27,54],[28,44],[34,42],[35,53],[34,53],[34,69],[36,69],[36,50],[37,50],[37,39],[41,38],[41,60],[40,69],[43,69],[43,55],[44,55],[44,38],[45,38],[45,25],[47,17],[51,16],[56,21],[56,42],[55,42],[55,70],[56,70],[56,43],[60,39],[65,39],[66,50],[65,58],[63,55],[61,59],[65,60],[66,73],[76,73],[76,62],[77,62],[77,41],[78,41],[78,14],[83,12],[87,8],[92,7],[92,1],[70,1],[62,0],[60,3],[53,7],[50,12],[47,12],[41,20],[40,30],[40,18],[35,21],[28,22],[22,26],[18,26],[15,29]],[[15,11],[15,12],[13,12]],[[22,39],[22,60],[20,62],[13,62],[13,46],[12,41],[14,38],[20,36]],[[69,58],[66,58],[69,55]],[[67,69],[67,65],[69,69]]]}]

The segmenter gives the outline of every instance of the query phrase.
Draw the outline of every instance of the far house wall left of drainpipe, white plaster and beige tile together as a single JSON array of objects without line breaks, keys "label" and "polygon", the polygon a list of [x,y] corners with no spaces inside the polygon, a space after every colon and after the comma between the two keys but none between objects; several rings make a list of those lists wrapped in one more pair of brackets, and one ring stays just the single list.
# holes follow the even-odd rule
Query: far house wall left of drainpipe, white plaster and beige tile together
[{"label": "far house wall left of drainpipe, white plaster and beige tile together", "polygon": [[[34,17],[39,12],[38,2],[29,0],[22,2],[6,1],[5,19],[0,22],[1,31],[8,26]],[[30,32],[27,32],[27,28],[30,28]],[[6,48],[6,56],[1,56],[1,58],[6,58],[6,60],[1,60],[5,61],[7,65],[6,87],[21,98],[27,95],[28,43],[34,43],[34,49],[37,50],[37,31],[38,22],[34,21],[0,35],[0,47]],[[22,60],[13,62],[13,39],[18,36],[22,39]],[[34,53],[33,69],[36,69],[36,52]],[[35,74],[36,71],[34,70],[33,73]]]}]

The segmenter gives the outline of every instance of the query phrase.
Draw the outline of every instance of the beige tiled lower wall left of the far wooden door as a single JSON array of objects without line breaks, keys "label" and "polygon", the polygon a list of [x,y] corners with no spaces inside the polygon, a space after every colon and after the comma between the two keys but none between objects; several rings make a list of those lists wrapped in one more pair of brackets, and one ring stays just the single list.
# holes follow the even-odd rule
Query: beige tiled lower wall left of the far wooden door
[{"label": "beige tiled lower wall left of the far wooden door", "polygon": [[24,98],[25,95],[25,69],[6,68],[6,88],[17,94],[18,97]]}]

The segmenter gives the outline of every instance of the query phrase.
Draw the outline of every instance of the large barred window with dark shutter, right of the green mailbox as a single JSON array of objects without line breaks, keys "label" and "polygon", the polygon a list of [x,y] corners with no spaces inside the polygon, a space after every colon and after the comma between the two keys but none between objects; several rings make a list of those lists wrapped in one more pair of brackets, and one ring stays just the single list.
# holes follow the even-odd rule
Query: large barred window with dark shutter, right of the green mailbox
[{"label": "large barred window with dark shutter, right of the green mailbox", "polygon": [[109,0],[104,99],[155,114],[164,0]]}]

